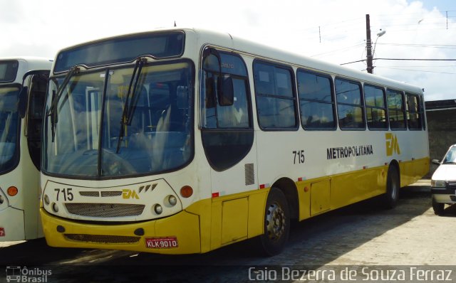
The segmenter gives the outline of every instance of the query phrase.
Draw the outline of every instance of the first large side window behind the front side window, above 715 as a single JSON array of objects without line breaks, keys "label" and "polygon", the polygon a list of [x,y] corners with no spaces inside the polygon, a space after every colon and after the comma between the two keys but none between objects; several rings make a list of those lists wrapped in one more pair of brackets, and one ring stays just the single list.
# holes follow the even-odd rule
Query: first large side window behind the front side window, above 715
[{"label": "first large side window behind the front side window, above 715", "polygon": [[254,62],[255,95],[261,129],[298,127],[292,70],[270,63]]}]

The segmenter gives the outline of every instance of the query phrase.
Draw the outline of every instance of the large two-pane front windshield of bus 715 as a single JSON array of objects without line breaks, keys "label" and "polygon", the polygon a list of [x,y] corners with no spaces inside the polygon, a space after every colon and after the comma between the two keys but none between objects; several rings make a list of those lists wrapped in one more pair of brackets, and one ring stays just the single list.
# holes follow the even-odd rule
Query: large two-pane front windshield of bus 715
[{"label": "large two-pane front windshield of bus 715", "polygon": [[51,78],[43,171],[116,178],[172,171],[190,162],[192,63],[137,67]]}]

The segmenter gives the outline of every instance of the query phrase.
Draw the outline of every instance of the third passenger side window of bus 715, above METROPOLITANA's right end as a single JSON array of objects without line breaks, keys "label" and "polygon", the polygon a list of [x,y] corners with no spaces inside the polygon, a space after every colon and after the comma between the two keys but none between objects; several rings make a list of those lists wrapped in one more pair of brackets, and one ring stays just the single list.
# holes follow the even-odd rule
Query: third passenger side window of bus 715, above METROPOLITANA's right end
[{"label": "third passenger side window of bus 715, above METROPOLITANA's right end", "polygon": [[361,84],[336,79],[338,121],[341,129],[366,129]]}]

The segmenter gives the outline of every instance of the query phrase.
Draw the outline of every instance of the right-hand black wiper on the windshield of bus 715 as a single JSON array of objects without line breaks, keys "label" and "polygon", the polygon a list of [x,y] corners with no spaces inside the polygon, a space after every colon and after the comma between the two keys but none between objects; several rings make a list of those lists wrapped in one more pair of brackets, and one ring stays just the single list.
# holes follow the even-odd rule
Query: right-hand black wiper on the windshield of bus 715
[{"label": "right-hand black wiper on the windshield of bus 715", "polygon": [[115,149],[115,153],[117,154],[120,151],[120,144],[122,144],[123,137],[125,136],[125,126],[130,126],[133,114],[135,113],[136,105],[138,104],[139,95],[136,94],[136,89],[138,87],[142,66],[144,66],[145,63],[147,63],[146,58],[140,57],[138,60],[136,60],[136,65],[133,69],[133,75],[130,79],[130,85],[128,85],[128,92],[125,97],[125,105],[123,105],[122,117],[120,117],[120,131],[117,141],[117,149]]}]

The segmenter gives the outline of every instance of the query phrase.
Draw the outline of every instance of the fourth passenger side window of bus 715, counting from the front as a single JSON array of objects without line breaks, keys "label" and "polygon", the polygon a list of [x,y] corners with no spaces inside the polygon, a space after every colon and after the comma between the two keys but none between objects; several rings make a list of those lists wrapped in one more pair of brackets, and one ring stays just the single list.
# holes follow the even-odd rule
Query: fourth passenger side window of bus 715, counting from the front
[{"label": "fourth passenger side window of bus 715, counting from the front", "polygon": [[388,129],[385,90],[383,87],[364,85],[364,101],[369,129]]}]

